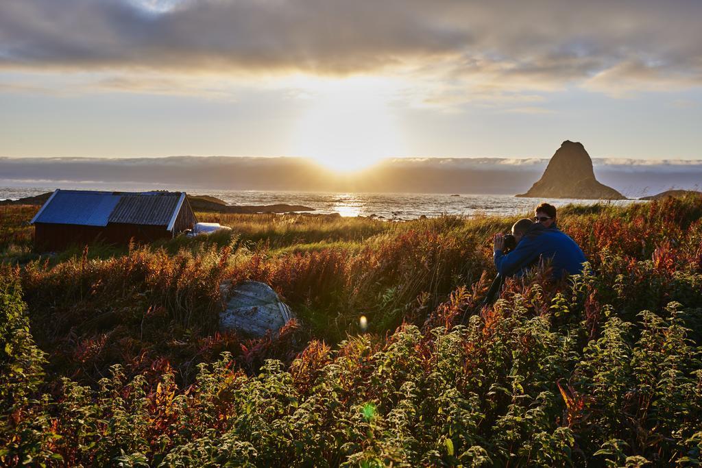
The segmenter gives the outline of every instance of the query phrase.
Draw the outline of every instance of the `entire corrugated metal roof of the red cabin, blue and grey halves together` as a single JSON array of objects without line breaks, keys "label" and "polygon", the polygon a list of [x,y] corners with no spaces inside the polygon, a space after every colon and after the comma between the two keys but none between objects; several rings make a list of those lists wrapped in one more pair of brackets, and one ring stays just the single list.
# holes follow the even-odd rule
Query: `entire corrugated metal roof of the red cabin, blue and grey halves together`
[{"label": "entire corrugated metal roof of the red cabin, blue and grey halves together", "polygon": [[91,192],[56,190],[32,222],[107,226],[107,223],[167,226],[181,192]]}]

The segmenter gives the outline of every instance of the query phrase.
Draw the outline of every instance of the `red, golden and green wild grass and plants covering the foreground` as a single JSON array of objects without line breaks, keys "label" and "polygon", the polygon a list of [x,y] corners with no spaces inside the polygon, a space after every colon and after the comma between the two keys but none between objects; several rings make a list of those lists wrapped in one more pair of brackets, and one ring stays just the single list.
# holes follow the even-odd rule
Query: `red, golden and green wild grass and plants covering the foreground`
[{"label": "red, golden and green wild grass and plants covering the foreground", "polygon": [[[232,234],[48,257],[4,209],[3,464],[701,462],[699,198],[559,210],[592,274],[547,265],[482,309],[515,219],[200,215]],[[298,321],[218,333],[243,279]]]}]

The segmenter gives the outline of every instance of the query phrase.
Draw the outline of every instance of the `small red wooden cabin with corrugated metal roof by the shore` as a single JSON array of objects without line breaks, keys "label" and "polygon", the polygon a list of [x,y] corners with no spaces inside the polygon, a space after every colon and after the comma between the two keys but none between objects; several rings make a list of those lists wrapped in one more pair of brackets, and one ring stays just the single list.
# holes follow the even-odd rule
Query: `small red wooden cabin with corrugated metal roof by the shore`
[{"label": "small red wooden cabin with corrugated metal roof by the shore", "polygon": [[185,192],[95,192],[57,189],[32,218],[34,245],[63,250],[96,241],[147,243],[192,229]]}]

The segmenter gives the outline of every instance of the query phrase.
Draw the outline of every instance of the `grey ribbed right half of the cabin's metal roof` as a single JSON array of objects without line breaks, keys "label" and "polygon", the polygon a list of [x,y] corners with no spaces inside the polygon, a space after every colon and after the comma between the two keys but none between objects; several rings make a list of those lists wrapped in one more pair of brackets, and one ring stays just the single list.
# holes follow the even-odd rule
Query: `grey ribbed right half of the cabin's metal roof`
[{"label": "grey ribbed right half of the cabin's metal roof", "polygon": [[180,192],[125,194],[110,215],[110,222],[130,225],[168,226],[178,206]]}]

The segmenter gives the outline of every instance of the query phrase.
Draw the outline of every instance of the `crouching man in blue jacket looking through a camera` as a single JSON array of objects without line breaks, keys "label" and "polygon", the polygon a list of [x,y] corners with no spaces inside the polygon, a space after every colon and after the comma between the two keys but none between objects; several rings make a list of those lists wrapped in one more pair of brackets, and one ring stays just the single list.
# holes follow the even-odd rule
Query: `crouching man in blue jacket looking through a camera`
[{"label": "crouching man in blue jacket looking through a camera", "polygon": [[494,237],[495,267],[501,276],[522,276],[525,269],[541,259],[551,260],[554,279],[583,271],[583,250],[559,229],[550,229],[524,218],[512,226],[512,235],[517,247],[508,254],[503,253],[503,234]]}]

